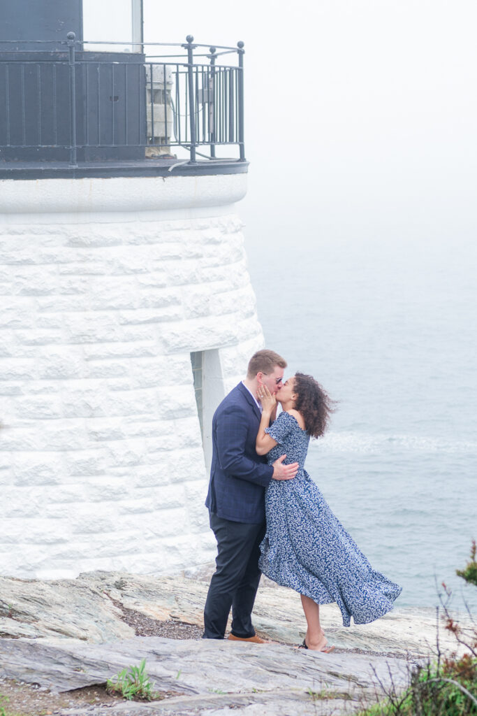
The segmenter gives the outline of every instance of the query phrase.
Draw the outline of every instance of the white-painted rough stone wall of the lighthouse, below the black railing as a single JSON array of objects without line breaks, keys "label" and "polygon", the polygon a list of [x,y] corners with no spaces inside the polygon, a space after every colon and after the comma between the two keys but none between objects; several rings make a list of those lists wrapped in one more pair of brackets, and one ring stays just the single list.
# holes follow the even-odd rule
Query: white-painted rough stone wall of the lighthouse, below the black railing
[{"label": "white-painted rough stone wall of the lighthouse, below the black railing", "polygon": [[1,574],[213,558],[190,354],[209,420],[263,344],[244,193],[245,175],[1,183]]}]

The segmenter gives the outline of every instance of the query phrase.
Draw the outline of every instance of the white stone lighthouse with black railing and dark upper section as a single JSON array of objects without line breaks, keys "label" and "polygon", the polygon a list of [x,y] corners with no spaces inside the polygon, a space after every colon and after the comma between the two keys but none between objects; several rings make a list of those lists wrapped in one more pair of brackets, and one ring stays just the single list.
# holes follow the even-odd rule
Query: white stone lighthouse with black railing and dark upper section
[{"label": "white stone lighthouse with black railing and dark upper section", "polygon": [[263,345],[243,44],[145,45],[137,0],[121,42],[82,0],[3,12],[1,574],[200,566],[212,414]]}]

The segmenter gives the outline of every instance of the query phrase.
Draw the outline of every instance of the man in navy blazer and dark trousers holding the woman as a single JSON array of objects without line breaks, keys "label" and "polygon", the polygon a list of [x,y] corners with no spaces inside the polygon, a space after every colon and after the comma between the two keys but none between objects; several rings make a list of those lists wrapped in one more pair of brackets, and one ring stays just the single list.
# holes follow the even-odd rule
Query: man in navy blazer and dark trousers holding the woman
[{"label": "man in navy blazer and dark trousers holding the woman", "polygon": [[232,607],[229,639],[263,643],[252,626],[252,609],[260,582],[258,558],[265,535],[265,488],[270,480],[291,480],[298,464],[272,465],[255,452],[261,407],[257,390],[280,390],[285,360],[262,350],[250,359],[247,377],[215,411],[212,420],[212,467],[205,504],[217,539],[215,574],[204,610],[204,639],[223,639]]}]

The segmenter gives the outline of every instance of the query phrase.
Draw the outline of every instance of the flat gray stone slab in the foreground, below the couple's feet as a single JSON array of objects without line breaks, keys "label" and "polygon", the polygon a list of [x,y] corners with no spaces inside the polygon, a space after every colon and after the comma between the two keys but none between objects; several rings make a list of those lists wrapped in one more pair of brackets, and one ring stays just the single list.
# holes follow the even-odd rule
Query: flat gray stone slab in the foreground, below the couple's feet
[{"label": "flat gray stone slab in the foreground, below the couple's feet", "polygon": [[[104,644],[77,639],[0,639],[0,676],[59,692],[104,683],[119,670],[138,665],[144,658],[154,689],[178,692],[180,696],[152,704],[118,705],[115,712],[127,713],[129,708],[131,713],[167,714],[183,709],[206,714],[231,707],[250,709],[260,704],[272,709],[270,713],[285,714],[289,703],[291,712],[296,713],[300,704],[300,713],[308,713],[308,707],[314,705],[316,709],[318,703],[321,707],[328,700],[336,708],[343,696],[346,703],[369,702],[380,693],[378,682],[392,681],[403,687],[408,677],[408,663],[404,659],[323,654],[282,644],[160,637],[135,637]],[[310,692],[325,692],[325,698],[314,701]],[[328,699],[327,694],[333,698]],[[112,712],[110,707],[107,712]]]}]

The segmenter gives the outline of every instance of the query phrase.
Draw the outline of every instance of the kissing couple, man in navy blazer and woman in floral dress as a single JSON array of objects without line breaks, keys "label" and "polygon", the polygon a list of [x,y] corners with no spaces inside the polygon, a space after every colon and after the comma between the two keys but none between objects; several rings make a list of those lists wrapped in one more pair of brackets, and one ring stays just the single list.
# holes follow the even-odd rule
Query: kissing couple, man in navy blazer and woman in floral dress
[{"label": "kissing couple, man in navy blazer and woman in floral dress", "polygon": [[212,420],[205,504],[217,558],[203,638],[224,639],[232,609],[228,638],[264,643],[252,609],[265,574],[300,594],[308,625],[301,646],[330,652],[320,604],[336,602],[345,626],[351,616],[365,624],[390,611],[401,588],[373,570],[306,472],[310,438],[324,434],[334,403],[310,375],[284,382],[286,367],[273,351],[255,353]]}]

